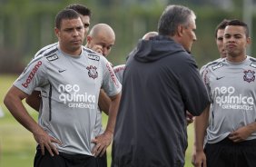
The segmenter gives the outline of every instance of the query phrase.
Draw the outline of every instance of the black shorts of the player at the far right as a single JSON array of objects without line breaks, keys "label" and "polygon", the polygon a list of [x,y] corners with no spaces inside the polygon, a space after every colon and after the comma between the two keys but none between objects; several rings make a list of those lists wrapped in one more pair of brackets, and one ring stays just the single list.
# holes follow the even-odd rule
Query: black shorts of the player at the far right
[{"label": "black shorts of the player at the far right", "polygon": [[204,152],[207,167],[256,166],[256,140],[235,143],[225,138],[221,142],[206,143]]}]

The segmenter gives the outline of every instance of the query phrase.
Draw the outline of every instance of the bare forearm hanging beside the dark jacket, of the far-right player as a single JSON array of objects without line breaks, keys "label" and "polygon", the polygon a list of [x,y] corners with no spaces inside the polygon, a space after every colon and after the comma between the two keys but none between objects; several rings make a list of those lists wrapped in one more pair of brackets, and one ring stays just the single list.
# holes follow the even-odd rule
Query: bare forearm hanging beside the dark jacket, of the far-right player
[{"label": "bare forearm hanging beside the dark jacket, of the far-right player", "polygon": [[203,150],[203,141],[208,126],[209,106],[207,106],[200,116],[194,119],[194,147],[196,151]]}]

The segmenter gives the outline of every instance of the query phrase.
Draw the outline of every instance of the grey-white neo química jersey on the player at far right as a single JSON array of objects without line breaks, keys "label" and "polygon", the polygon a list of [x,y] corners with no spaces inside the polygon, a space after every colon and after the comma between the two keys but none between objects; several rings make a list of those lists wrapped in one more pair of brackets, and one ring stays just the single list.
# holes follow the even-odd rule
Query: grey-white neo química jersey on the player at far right
[{"label": "grey-white neo qu\u00edmica jersey on the player at far right", "polygon": [[[218,59],[201,70],[211,104],[207,142],[220,142],[230,133],[256,121],[256,59],[239,63]],[[246,140],[256,139],[251,133]]]}]

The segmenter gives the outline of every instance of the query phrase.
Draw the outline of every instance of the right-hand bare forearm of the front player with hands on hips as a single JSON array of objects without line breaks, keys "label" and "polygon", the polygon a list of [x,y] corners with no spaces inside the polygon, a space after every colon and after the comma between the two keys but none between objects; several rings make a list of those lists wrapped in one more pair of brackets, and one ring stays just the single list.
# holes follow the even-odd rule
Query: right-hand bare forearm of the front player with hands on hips
[{"label": "right-hand bare forearm of the front player with hands on hips", "polygon": [[111,104],[110,104],[110,110],[109,110],[109,116],[108,116],[108,122],[106,126],[106,131],[113,133],[116,116],[119,108],[121,93],[118,93],[112,98]]}]

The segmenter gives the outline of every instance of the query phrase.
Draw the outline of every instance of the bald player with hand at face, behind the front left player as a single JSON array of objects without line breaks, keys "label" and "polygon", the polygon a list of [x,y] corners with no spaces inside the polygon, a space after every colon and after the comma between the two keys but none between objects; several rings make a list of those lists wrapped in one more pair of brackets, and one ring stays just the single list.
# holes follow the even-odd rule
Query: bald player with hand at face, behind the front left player
[{"label": "bald player with hand at face, behind the front left player", "polygon": [[[103,54],[106,57],[108,54],[110,54],[111,49],[113,47],[113,44],[115,41],[115,34],[110,25],[97,24],[92,27],[86,39],[87,39],[87,43],[85,44],[85,47],[92,49],[99,54]],[[51,47],[53,46],[54,45],[52,45]],[[38,53],[44,53],[44,52],[38,52]],[[37,55],[38,54],[36,54],[36,56]],[[42,102],[40,98],[41,94],[38,91],[34,91],[32,94],[33,95],[30,95],[26,98],[26,103],[32,106],[36,111],[39,111],[40,106],[42,106],[40,105],[40,103]],[[106,105],[106,102],[107,102],[107,105]],[[95,128],[94,133],[96,136],[104,132],[103,123],[102,123],[102,111],[108,114],[110,103],[111,103],[110,97],[106,93],[104,93],[103,89],[101,89],[100,95],[99,95],[99,103],[98,103],[99,108],[97,111],[97,120],[94,126]],[[96,149],[96,147],[94,149]],[[107,163],[106,153],[103,154],[100,160],[101,162],[105,162],[105,164]]]}]

